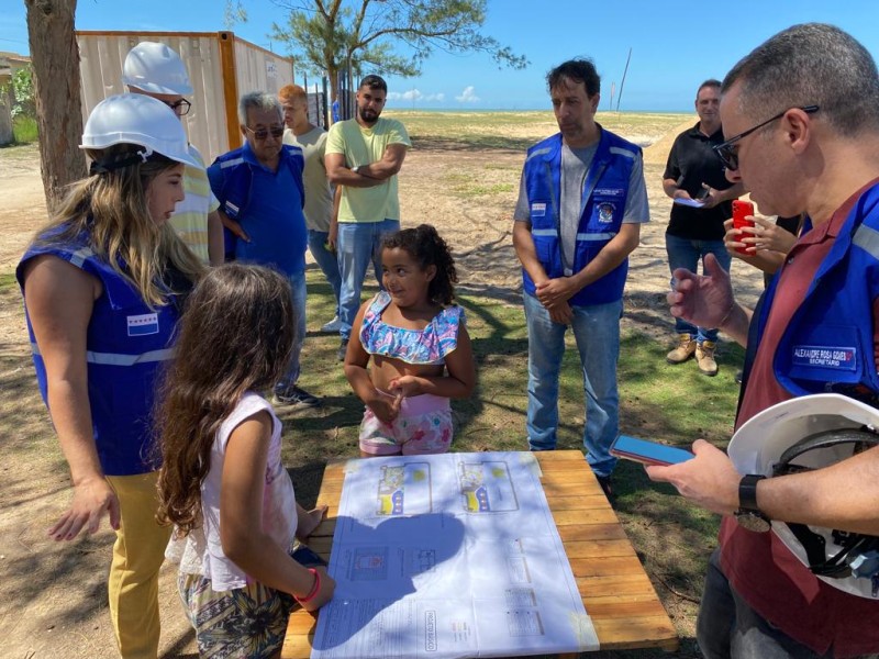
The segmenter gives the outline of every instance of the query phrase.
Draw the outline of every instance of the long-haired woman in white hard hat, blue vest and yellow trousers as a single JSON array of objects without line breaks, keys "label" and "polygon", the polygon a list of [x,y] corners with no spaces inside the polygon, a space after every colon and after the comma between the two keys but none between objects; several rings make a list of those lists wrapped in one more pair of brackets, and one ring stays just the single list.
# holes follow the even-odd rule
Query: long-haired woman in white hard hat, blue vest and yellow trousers
[{"label": "long-haired woman in white hard hat, blue vest and yellow trousers", "polygon": [[158,650],[158,570],[170,530],[157,525],[151,423],[157,371],[171,357],[183,297],[202,271],[167,221],[197,166],[182,125],[162,102],[122,94],[100,102],[75,183],[22,257],[33,359],[74,483],[48,533],[116,532],[110,614],[123,657]]}]

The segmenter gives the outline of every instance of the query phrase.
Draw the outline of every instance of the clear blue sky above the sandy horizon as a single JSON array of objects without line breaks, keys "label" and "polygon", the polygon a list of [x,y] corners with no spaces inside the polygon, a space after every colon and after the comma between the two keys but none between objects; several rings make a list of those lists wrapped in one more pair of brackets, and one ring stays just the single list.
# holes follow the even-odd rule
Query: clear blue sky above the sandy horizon
[{"label": "clear blue sky above the sandy horizon", "polygon": [[[24,3],[2,3],[0,51],[26,54]],[[283,20],[283,11],[269,0],[243,0],[243,4],[249,20],[237,24],[235,34],[283,53],[283,46],[267,36],[271,22]],[[607,110],[614,82],[619,94],[631,47],[632,63],[621,110],[689,111],[702,80],[722,78],[767,37],[808,21],[838,25],[858,38],[874,57],[879,56],[876,0],[489,0],[488,5],[483,32],[525,55],[531,65],[521,71],[499,70],[486,55],[435,53],[422,67],[420,77],[388,78],[389,107],[548,109],[546,71],[569,57],[588,56],[602,76],[600,109]],[[223,0],[79,0],[76,24],[79,30],[225,29]],[[297,82],[302,82],[299,75]],[[613,104],[616,105],[616,97]]]}]

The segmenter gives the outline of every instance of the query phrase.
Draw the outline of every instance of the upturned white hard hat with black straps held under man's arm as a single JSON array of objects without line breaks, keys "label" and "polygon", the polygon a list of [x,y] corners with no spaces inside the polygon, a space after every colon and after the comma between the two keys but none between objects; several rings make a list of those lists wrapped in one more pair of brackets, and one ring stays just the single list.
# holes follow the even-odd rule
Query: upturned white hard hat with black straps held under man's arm
[{"label": "upturned white hard hat with black straps held under man's arm", "polygon": [[[876,407],[838,393],[804,395],[772,405],[749,418],[733,435],[727,454],[739,473],[772,477],[779,468],[782,468],[782,472],[793,472],[801,468],[820,469],[850,458],[859,448],[859,439],[868,437],[874,443],[879,440],[871,436],[877,429],[879,410]],[[810,442],[804,443],[804,439]],[[798,444],[799,446],[792,448]],[[788,468],[794,463],[794,468]],[[836,563],[843,568],[846,567],[841,562],[844,549],[854,541],[859,540],[858,547],[864,547],[866,543],[872,550],[854,565],[849,560],[848,565],[853,568],[858,565],[867,568],[871,565],[876,568],[879,563],[879,552],[876,551],[879,538],[777,521],[772,521],[772,532],[819,579],[854,595],[869,599],[876,596],[869,576],[822,574],[821,569],[815,569],[814,561],[810,561],[803,541],[811,545],[810,536],[821,536],[823,539],[819,539],[816,545],[820,550],[812,549],[812,558],[820,551],[822,560],[830,563],[835,558]],[[853,551],[853,559],[858,556],[857,551],[858,549]]]}]

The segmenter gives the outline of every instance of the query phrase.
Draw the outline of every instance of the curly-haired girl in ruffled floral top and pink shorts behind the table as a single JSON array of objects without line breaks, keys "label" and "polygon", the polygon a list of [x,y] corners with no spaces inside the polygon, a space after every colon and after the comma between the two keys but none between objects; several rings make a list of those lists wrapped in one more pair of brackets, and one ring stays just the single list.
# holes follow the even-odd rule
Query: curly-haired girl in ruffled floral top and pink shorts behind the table
[{"label": "curly-haired girl in ruffled floral top and pink shorts behind the table", "polygon": [[[360,455],[424,455],[452,444],[449,399],[476,384],[457,273],[445,241],[422,224],[382,244],[385,290],[354,321],[345,375],[365,403]],[[367,365],[372,361],[371,368]]]}]

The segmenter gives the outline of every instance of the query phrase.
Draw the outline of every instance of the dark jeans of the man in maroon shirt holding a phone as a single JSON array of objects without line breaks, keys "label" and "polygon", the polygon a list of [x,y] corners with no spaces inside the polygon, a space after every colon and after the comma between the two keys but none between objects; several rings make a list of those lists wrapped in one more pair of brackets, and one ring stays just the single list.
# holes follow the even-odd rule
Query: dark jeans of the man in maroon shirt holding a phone
[{"label": "dark jeans of the man in maroon shirt holding a phone", "polygon": [[[865,621],[865,624],[868,624]],[[771,626],[735,592],[720,567],[720,549],[708,563],[705,590],[696,623],[705,659],[830,659]]]}]

